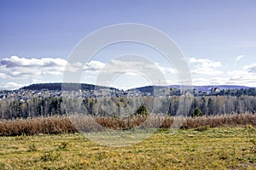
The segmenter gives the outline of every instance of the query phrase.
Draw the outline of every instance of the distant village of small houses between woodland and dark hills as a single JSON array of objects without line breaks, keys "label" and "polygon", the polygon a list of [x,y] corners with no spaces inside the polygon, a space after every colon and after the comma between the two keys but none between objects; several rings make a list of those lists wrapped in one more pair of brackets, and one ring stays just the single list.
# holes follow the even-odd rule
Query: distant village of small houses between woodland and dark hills
[{"label": "distant village of small houses between woodland and dark hills", "polygon": [[[247,91],[247,92],[244,92]],[[160,86],[148,86],[143,88],[132,88],[129,90],[119,90],[117,88],[87,88],[87,89],[69,89],[65,90],[61,88],[49,89],[38,88],[30,89],[20,88],[16,90],[0,90],[0,100],[2,99],[14,99],[27,101],[29,99],[38,98],[61,98],[73,97],[73,98],[100,98],[100,97],[171,97],[171,96],[209,96],[209,95],[233,95],[238,94],[255,95],[255,88],[248,89],[222,89],[218,87],[206,88],[204,91],[193,88],[188,90],[181,90],[180,88],[166,88]]]}]

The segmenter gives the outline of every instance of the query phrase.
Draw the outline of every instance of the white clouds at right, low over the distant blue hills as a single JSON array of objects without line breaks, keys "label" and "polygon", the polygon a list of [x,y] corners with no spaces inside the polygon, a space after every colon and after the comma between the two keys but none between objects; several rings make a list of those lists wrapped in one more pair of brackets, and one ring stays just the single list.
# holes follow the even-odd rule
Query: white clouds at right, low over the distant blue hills
[{"label": "white clouds at right, low over the distant blue hills", "polygon": [[[239,61],[244,56],[236,57]],[[207,84],[233,84],[245,85],[249,87],[256,86],[256,63],[245,65],[240,70],[221,70],[221,63],[212,61],[210,59],[195,59],[190,58],[189,63],[192,67],[192,77],[194,85],[207,85]]]}]

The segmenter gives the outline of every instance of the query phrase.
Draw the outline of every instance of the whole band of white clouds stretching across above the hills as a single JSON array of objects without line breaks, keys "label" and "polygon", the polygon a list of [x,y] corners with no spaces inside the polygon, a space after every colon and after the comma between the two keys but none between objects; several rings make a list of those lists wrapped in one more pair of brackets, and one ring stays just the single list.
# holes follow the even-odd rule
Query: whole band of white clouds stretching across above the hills
[{"label": "whole band of white clouds stretching across above the hills", "polygon": [[[240,60],[244,56],[238,56]],[[241,69],[225,71],[224,66],[219,61],[211,59],[189,58],[188,64],[194,85],[218,85],[218,84],[236,84],[256,87],[256,63],[241,66]],[[107,68],[107,69],[106,69]],[[22,58],[12,56],[0,60],[0,88],[15,89],[24,85],[38,82],[61,82],[64,71],[73,73],[83,72],[83,82],[94,83],[98,74],[105,71],[109,74],[118,74],[120,68],[125,70],[127,77],[132,78],[133,83],[143,83],[139,78],[139,72],[160,71],[169,84],[179,84],[177,80],[177,71],[175,68],[163,66],[160,63],[145,63],[141,61],[125,61],[112,59],[108,63],[99,60],[90,60],[83,63],[68,63],[66,59],[61,58]],[[173,78],[175,77],[175,78]],[[158,85],[158,82],[155,82]],[[120,85],[121,86],[121,85]],[[123,82],[122,87],[129,87],[128,80]]]}]

